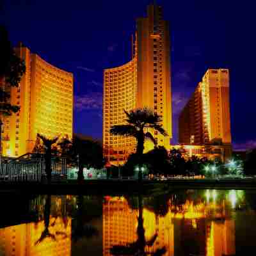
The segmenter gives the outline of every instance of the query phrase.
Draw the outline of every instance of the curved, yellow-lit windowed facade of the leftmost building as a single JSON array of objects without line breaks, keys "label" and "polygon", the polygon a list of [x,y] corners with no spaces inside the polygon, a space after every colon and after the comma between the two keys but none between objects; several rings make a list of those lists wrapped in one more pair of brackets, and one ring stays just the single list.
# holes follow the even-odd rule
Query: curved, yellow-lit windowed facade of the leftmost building
[{"label": "curved, yellow-lit windowed facade of the leftmost building", "polygon": [[66,134],[72,138],[73,75],[31,55],[30,140]]}]

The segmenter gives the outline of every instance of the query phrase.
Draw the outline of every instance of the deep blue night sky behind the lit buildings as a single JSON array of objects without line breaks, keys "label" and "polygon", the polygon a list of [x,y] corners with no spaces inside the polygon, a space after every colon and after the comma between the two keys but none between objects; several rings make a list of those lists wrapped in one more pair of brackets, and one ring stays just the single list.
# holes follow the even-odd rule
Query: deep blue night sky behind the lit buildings
[{"label": "deep blue night sky behind the lit buildings", "polygon": [[[75,132],[102,138],[103,68],[131,58],[135,19],[149,0],[0,0],[0,23],[56,67],[74,73]],[[173,143],[177,118],[207,68],[230,68],[232,141],[256,147],[253,1],[162,0],[172,41]],[[1,58],[1,56],[0,56]]]}]

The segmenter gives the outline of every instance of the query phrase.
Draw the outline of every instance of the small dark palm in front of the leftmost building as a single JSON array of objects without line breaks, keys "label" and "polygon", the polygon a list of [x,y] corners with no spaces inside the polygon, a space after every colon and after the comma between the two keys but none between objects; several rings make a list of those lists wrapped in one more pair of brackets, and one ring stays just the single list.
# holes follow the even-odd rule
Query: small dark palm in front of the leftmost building
[{"label": "small dark palm in front of the leftmost building", "polygon": [[37,134],[37,137],[40,138],[45,147],[45,154],[44,154],[44,159],[45,159],[45,173],[47,176],[47,182],[48,184],[51,183],[51,176],[52,176],[52,168],[51,168],[51,163],[52,163],[52,145],[54,145],[58,141],[58,137],[55,137],[53,139],[49,139],[45,137],[42,134]]}]

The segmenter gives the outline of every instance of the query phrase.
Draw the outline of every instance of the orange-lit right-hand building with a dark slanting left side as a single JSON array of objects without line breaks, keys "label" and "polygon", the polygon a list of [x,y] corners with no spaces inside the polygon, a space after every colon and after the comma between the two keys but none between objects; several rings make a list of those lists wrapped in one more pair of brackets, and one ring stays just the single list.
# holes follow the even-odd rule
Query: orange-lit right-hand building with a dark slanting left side
[{"label": "orange-lit right-hand building with a dark slanting left side", "polygon": [[202,149],[202,153],[220,154],[221,161],[230,157],[228,69],[205,73],[179,116],[179,143]]}]

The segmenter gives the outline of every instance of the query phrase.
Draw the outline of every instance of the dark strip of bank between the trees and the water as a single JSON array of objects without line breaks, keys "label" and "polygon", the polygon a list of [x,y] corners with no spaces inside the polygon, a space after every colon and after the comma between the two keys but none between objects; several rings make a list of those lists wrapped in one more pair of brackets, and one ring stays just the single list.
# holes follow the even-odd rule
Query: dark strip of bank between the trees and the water
[{"label": "dark strip of bank between the trees and the water", "polygon": [[256,189],[256,179],[180,179],[180,180],[84,180],[52,182],[42,184],[36,182],[1,182],[0,193],[25,193],[51,195],[77,194],[115,194],[115,193],[154,193],[154,189]]}]

